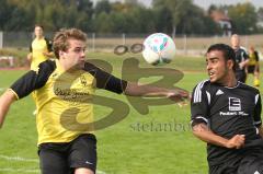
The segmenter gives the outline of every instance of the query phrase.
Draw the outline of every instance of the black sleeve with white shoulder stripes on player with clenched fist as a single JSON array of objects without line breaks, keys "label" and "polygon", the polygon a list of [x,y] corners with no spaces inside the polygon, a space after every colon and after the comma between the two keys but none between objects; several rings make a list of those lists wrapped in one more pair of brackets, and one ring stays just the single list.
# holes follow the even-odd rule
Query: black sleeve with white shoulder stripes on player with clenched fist
[{"label": "black sleeve with white shoulder stripes on player with clenched fist", "polygon": [[204,82],[198,83],[192,93],[191,100],[191,125],[204,123],[208,125],[208,97],[204,90]]}]

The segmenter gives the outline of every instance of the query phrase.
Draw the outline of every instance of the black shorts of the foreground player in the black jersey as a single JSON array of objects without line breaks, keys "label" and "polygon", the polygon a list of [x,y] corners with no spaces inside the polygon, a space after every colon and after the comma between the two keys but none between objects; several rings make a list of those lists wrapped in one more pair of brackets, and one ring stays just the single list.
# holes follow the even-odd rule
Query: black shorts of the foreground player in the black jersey
[{"label": "black shorts of the foreground player in the black jersey", "polygon": [[244,156],[235,161],[225,162],[220,165],[209,166],[209,174],[262,174],[263,149],[245,152]]}]

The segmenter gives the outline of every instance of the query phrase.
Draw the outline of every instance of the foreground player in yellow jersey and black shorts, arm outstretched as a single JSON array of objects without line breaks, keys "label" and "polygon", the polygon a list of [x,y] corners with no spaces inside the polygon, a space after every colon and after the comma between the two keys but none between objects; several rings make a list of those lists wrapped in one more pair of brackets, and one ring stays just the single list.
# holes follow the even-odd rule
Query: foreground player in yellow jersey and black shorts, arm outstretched
[{"label": "foreground player in yellow jersey and black shorts, arm outstretched", "polygon": [[85,61],[85,43],[87,36],[80,30],[56,33],[53,48],[57,59],[46,60],[38,69],[28,71],[0,97],[1,126],[10,105],[35,92],[43,174],[95,173],[96,138],[92,124],[82,129],[81,124],[72,125],[70,120],[93,121],[92,94],[96,88],[132,96],[163,96],[174,102],[188,96],[182,89],[139,85],[115,78]]}]

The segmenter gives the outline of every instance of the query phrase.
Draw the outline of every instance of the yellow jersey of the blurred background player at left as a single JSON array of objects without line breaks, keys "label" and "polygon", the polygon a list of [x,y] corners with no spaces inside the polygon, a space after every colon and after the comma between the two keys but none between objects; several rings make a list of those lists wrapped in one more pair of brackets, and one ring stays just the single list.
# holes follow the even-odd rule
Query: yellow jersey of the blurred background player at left
[{"label": "yellow jersey of the blurred background player at left", "polygon": [[52,47],[53,47],[52,40],[45,37],[43,37],[42,39],[35,38],[32,42],[30,46],[30,51],[32,53],[31,69],[36,69],[41,62],[48,59],[48,57],[46,57],[43,53],[53,51]]}]

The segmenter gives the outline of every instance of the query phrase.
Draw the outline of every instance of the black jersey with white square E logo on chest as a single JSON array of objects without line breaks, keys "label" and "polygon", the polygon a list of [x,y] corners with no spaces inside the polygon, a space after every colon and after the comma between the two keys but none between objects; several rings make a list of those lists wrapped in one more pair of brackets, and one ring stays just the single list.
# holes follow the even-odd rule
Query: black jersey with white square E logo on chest
[{"label": "black jersey with white square E logo on chest", "polygon": [[[259,90],[238,82],[235,88],[226,88],[210,81],[198,83],[191,101],[192,126],[204,123],[213,132],[230,139],[235,135],[245,135],[245,143],[261,139],[261,96]],[[207,144],[209,165],[238,159],[241,150]]]}]

